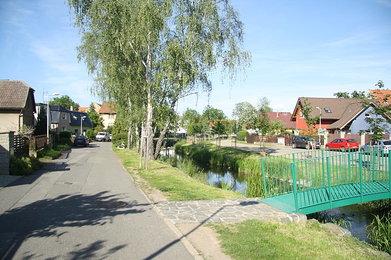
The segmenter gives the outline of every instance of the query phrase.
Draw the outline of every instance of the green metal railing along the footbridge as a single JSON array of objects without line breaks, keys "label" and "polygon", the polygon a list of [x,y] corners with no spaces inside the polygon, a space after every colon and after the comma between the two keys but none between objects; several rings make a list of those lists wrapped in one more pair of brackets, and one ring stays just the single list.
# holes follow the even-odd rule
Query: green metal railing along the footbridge
[{"label": "green metal railing along the footbridge", "polygon": [[[378,154],[378,155],[377,155]],[[391,156],[381,152],[305,152],[261,159],[265,198],[311,189],[390,181]]]}]

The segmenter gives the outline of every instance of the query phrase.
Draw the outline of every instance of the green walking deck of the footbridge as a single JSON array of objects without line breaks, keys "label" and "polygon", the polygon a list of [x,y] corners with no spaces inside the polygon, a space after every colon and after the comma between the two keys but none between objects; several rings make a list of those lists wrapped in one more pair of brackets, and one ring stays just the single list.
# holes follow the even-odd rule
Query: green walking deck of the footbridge
[{"label": "green walking deck of the footbridge", "polygon": [[[309,214],[369,200],[390,198],[390,182],[375,181],[309,189],[297,193],[298,212]],[[296,212],[294,193],[270,197],[262,202],[284,212]]]}]

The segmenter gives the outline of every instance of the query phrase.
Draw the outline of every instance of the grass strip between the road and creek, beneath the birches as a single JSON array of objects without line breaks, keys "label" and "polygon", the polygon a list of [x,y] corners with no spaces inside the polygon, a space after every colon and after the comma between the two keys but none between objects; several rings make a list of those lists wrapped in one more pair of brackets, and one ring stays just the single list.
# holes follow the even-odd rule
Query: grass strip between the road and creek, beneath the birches
[{"label": "grass strip between the road and creek, beneath the birches", "polygon": [[[142,179],[163,192],[168,200],[218,200],[236,199],[243,196],[232,191],[221,190],[206,185],[198,180],[191,179],[178,169],[159,161],[148,161],[148,169],[138,169],[139,155],[127,149],[115,149],[114,152],[131,175],[138,175]],[[140,187],[148,189],[148,187]]]}]

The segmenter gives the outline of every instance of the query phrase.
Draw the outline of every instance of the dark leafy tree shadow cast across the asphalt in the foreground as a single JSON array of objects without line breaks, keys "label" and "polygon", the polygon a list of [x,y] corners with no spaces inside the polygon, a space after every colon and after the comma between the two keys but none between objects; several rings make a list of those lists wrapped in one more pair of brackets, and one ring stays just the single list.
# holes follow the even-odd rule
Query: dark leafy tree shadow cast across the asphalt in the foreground
[{"label": "dark leafy tree shadow cast across the asphalt in the foreground", "polygon": [[[94,195],[62,195],[54,199],[39,200],[28,205],[13,208],[0,216],[0,230],[3,234],[16,234],[14,239],[0,237],[0,259],[12,259],[22,242],[29,238],[59,238],[67,231],[58,228],[85,227],[105,225],[113,221],[117,215],[137,214],[145,212],[135,201],[128,202],[121,210],[117,208],[102,208],[98,202],[116,201],[116,198],[101,192]],[[64,230],[64,229],[63,229]],[[4,241],[5,240],[5,241]],[[104,248],[105,240],[97,240],[86,247],[79,244],[59,258],[86,259],[97,257],[98,250]],[[127,244],[116,245],[107,249],[106,254],[126,247]],[[5,255],[4,255],[5,254]],[[37,254],[24,255],[25,259],[43,258]],[[99,252],[99,258],[102,258]],[[104,257],[103,257],[104,258]]]}]

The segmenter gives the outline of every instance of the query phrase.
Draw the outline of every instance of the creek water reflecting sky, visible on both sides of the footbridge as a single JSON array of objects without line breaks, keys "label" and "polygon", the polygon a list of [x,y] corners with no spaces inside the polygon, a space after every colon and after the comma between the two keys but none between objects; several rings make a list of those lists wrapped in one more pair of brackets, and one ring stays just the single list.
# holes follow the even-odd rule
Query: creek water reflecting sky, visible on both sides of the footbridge
[{"label": "creek water reflecting sky, visible on both sides of the footbridge", "polygon": [[[175,157],[178,160],[179,167],[183,162],[189,160],[192,161],[199,170],[203,169],[203,172],[206,174],[208,184],[213,184],[221,188],[222,180],[224,180],[225,183],[229,183],[231,181],[234,191],[239,191],[242,194],[245,193],[245,174],[239,174],[232,169],[214,167],[205,162],[192,160],[189,157],[176,154],[173,149],[165,149],[161,151],[160,154],[164,156]],[[352,233],[352,236],[358,238],[359,240],[368,242],[368,238],[365,233],[366,226],[369,225],[374,219],[373,215],[378,213],[365,206],[354,204],[326,210],[326,214],[336,218],[344,218],[348,224],[347,229]]]}]

